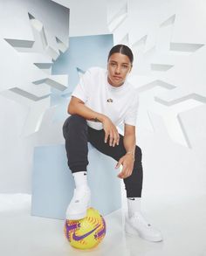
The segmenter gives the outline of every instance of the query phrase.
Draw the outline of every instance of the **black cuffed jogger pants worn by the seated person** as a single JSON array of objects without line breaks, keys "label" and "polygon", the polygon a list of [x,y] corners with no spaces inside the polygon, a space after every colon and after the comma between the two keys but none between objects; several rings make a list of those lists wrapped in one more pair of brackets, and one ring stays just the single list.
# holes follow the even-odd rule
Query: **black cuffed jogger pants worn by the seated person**
[{"label": "black cuffed jogger pants worn by the seated person", "polygon": [[[87,125],[86,119],[78,114],[69,116],[63,125],[63,135],[65,137],[65,150],[68,159],[68,166],[72,173],[86,170],[88,162],[88,144],[90,142],[94,148],[98,149],[106,156],[111,156],[116,161],[126,154],[123,144],[123,136],[120,135],[119,145],[114,147],[105,143],[104,129],[96,130]],[[127,197],[141,197],[142,190],[142,165],[141,148],[135,148],[134,170],[131,176],[123,179],[127,190]]]}]

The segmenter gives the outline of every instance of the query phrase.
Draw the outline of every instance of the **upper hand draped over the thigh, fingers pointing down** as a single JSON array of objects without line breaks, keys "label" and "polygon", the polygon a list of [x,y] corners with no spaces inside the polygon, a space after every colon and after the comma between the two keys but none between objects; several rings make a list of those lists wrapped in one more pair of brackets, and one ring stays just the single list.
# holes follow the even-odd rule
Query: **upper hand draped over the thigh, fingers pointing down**
[{"label": "upper hand draped over the thigh, fingers pointing down", "polygon": [[109,146],[114,147],[115,144],[119,145],[120,135],[113,122],[108,117],[106,117],[104,121],[102,121],[102,125],[105,130],[105,143],[107,142],[109,137]]}]

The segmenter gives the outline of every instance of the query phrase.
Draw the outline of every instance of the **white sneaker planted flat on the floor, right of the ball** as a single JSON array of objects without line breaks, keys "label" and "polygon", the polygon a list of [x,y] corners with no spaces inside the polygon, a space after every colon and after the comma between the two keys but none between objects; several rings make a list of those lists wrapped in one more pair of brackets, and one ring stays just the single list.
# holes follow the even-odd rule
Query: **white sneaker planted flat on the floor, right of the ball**
[{"label": "white sneaker planted flat on the floor, right of the ball", "polygon": [[163,240],[161,232],[149,224],[140,212],[135,212],[134,216],[126,218],[125,231],[130,235],[139,235],[150,242]]}]

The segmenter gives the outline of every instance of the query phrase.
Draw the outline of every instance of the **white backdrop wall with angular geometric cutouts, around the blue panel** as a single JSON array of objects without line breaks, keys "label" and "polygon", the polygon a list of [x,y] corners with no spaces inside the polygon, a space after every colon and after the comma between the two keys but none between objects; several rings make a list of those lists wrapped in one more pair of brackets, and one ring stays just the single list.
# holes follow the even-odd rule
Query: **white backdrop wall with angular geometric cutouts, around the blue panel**
[{"label": "white backdrop wall with angular geometric cutouts, around the blue panel", "polygon": [[[56,42],[54,40],[58,49],[61,47],[60,52],[64,52],[64,45],[69,46],[66,39],[69,39],[68,17],[71,11],[70,31],[72,34],[70,33],[70,36],[111,33],[113,34],[113,45],[126,43],[134,51],[134,68],[129,79],[140,93],[137,142],[143,150],[145,190],[164,190],[165,193],[179,190],[189,192],[192,186],[196,192],[205,191],[206,162],[203,152],[206,151],[204,132],[206,130],[204,86],[206,84],[204,72],[206,66],[206,34],[204,32],[206,6],[204,2],[201,0],[196,2],[186,0],[112,0],[104,2],[97,0],[94,4],[93,0],[88,0],[84,5],[85,11],[83,11],[79,9],[80,6],[83,6],[79,4],[80,1],[58,0],[56,2],[59,4],[55,1],[44,1],[44,4],[48,5],[48,10],[45,11],[45,7],[41,6],[41,12],[37,8],[40,6],[39,4],[43,4],[43,1],[31,1],[30,5],[26,5],[29,2],[1,1],[0,3],[2,77],[6,83],[8,82],[7,86],[14,85],[10,82],[12,80],[17,81],[24,78],[25,81],[32,78],[33,75],[35,75],[34,80],[37,77],[38,82],[45,76],[56,82],[53,84],[51,80],[46,80],[47,84],[28,84],[25,87],[21,87],[24,86],[24,83],[18,83],[8,94],[8,87],[3,86],[6,83],[1,80],[0,107],[4,109],[0,113],[0,151],[2,152],[1,164],[3,166],[0,173],[0,187],[3,189],[2,191],[30,191],[33,147],[42,145],[43,142],[46,144],[63,142],[62,137],[53,137],[53,133],[55,134],[53,127],[51,128],[52,135],[48,134],[46,137],[42,135],[45,133],[43,129],[46,131],[47,121],[51,120],[57,110],[55,105],[51,106],[54,99],[51,102],[51,95],[48,95],[47,92],[48,88],[51,93],[52,85],[56,86],[55,89],[59,85],[59,87],[65,88],[69,82],[69,77],[65,74],[58,76],[58,79],[57,74],[53,74],[51,77],[51,56],[48,59],[48,55],[44,55],[42,52],[35,54],[20,52],[19,47],[17,51],[17,45],[16,47],[10,45],[5,38],[23,40],[24,45],[31,46],[31,41],[41,42],[38,38],[44,35],[41,32],[41,24],[43,24],[46,28],[45,34],[50,34],[48,38],[57,36],[63,43],[56,38]],[[36,6],[32,7],[35,3],[37,3]],[[52,6],[55,7],[55,10],[58,8],[59,12],[52,13]],[[69,8],[71,9],[69,10]],[[52,23],[61,24],[60,29],[56,30],[57,32],[52,31],[53,25],[47,26]],[[59,32],[62,32],[66,39],[62,38]],[[48,42],[52,45],[53,40],[48,39]],[[54,50],[56,49],[55,44],[53,45]],[[31,63],[37,63],[37,65],[33,66]],[[46,64],[39,65],[38,63]],[[25,66],[27,73],[23,73],[26,70]],[[15,67],[20,68],[21,72],[17,72],[18,69]],[[47,74],[45,75],[45,73]],[[33,81],[33,78],[31,80]],[[52,86],[52,90],[55,90],[54,86]],[[36,88],[36,92],[32,92],[34,88]],[[39,88],[41,89],[39,90]],[[34,109],[37,110],[37,114],[35,111],[31,114],[32,119],[25,123],[28,114]],[[44,113],[42,109],[44,111],[46,109],[45,115],[41,117],[40,122],[37,122],[39,113]],[[34,126],[34,123],[38,125]],[[28,124],[30,125],[28,126]],[[33,134],[34,131],[39,131],[39,124],[41,124],[41,133]],[[10,140],[6,140],[5,135],[9,135]],[[171,156],[175,157],[175,166],[174,163],[171,163]],[[165,162],[162,163],[162,159]],[[195,176],[194,170],[196,170]],[[172,176],[170,176],[171,173]],[[10,176],[13,179],[10,179]],[[178,176],[178,180],[175,179],[175,176]]]}]

